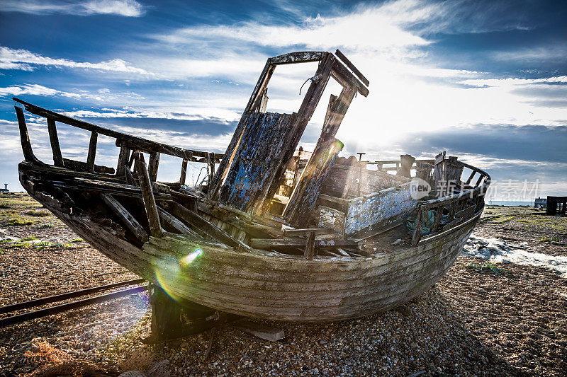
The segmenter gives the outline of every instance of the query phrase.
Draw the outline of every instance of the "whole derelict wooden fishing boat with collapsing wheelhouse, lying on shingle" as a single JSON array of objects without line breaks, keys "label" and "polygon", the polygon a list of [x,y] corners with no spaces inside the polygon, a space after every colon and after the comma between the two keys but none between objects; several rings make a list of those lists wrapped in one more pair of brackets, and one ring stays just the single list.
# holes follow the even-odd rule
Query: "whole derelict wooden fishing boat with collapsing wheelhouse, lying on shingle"
[{"label": "whole derelict wooden fishing boat with collapsing wheelhouse, lying on shingle", "polygon": [[[318,67],[301,107],[266,112],[274,69],[304,62]],[[303,151],[298,143],[330,80],[342,90],[321,104],[320,137]],[[490,176],[445,153],[378,162],[337,157],[337,129],[368,86],[338,50],[271,57],[223,154],[134,137],[14,98],[25,157],[20,181],[94,248],[177,302],[304,322],[387,311],[451,267],[481,216]],[[47,120],[53,164],[34,155],[24,110]],[[86,161],[62,156],[57,122],[91,132]],[[99,135],[116,139],[116,168],[95,164]],[[180,159],[179,181],[157,182],[163,154]],[[188,163],[203,163],[208,179],[186,185]],[[415,177],[432,187],[418,199]]]}]

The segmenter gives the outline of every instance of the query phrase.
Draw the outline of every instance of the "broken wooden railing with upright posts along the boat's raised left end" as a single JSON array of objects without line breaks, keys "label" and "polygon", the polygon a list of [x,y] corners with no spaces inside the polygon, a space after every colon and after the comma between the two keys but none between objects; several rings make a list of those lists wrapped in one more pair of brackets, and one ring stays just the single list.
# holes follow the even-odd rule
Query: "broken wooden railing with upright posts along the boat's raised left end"
[{"label": "broken wooden railing with upright posts along the boat's raised left end", "polygon": [[[161,153],[164,153],[169,156],[182,158],[179,182],[181,183],[181,185],[184,185],[186,180],[187,163],[207,163],[210,169],[210,174],[213,175],[215,170],[215,163],[220,163],[220,160],[223,158],[223,153],[184,149],[176,146],[158,143],[155,141],[150,141],[141,137],[134,137],[129,134],[124,134],[123,132],[117,132],[112,129],[97,126],[96,124],[91,124],[82,120],[76,120],[72,117],[67,117],[57,112],[52,112],[51,110],[40,108],[39,106],[32,105],[31,103],[27,103],[26,101],[20,100],[18,98],[13,98],[13,100],[15,100],[17,103],[21,103],[28,112],[34,115],[38,115],[39,117],[45,117],[47,119],[47,131],[49,132],[50,144],[53,153],[53,164],[61,168],[79,170],[85,173],[113,174],[116,175],[116,177],[125,178],[126,180],[128,180],[128,177],[131,176],[131,173],[128,174],[128,170],[130,170],[133,165],[134,153],[139,151],[150,154],[150,161],[148,161],[148,170],[150,174],[150,180],[152,180],[153,182],[157,178],[159,156]],[[26,120],[24,118],[23,111],[17,106],[16,114],[18,115],[18,124],[20,127],[20,136],[24,158],[26,158],[26,161],[38,162],[38,159],[35,158],[31,149],[28,129],[26,126]],[[83,163],[81,161],[68,160],[67,158],[62,157],[55,122],[61,122],[68,124],[69,126],[85,129],[86,131],[91,132],[91,138],[89,141],[89,153],[87,154],[86,163]],[[113,168],[107,168],[106,166],[95,166],[94,164],[96,157],[96,144],[99,134],[116,139],[116,146],[120,148],[116,173]]]}]

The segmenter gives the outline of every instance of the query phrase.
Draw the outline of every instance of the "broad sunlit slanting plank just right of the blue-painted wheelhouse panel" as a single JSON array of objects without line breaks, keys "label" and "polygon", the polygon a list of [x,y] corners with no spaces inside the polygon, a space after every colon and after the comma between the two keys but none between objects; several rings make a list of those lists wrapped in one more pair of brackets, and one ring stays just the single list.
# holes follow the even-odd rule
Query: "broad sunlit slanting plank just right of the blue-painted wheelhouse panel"
[{"label": "broad sunlit slanting plank just right of the blue-painted wheelhouse panel", "polygon": [[323,181],[342,150],[342,142],[334,137],[321,141],[315,147],[313,155],[301,173],[298,184],[293,188],[289,202],[283,210],[283,218],[289,224],[305,227],[315,203],[319,198]]}]

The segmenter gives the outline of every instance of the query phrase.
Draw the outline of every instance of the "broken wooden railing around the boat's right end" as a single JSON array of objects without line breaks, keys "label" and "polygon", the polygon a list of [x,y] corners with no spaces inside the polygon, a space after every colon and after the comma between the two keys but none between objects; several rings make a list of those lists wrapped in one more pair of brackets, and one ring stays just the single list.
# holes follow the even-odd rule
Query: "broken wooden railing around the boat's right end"
[{"label": "broken wooden railing around the boat's right end", "polygon": [[[417,204],[417,218],[415,219],[415,227],[412,236],[413,246],[420,242],[422,236],[425,236],[421,234],[422,226],[425,221],[427,221],[429,211],[434,211],[434,221],[430,232],[430,234],[432,234],[439,231],[444,211],[447,211],[447,221],[442,227],[443,231],[463,223],[483,209],[484,195],[488,189],[488,185],[490,185],[490,175],[484,170],[468,165],[468,163],[451,159],[444,161],[451,163],[451,166],[459,173],[459,178],[456,182],[453,182],[452,190],[448,191],[449,194],[453,192],[456,193]],[[462,180],[463,168],[471,170],[471,174],[466,180]],[[478,178],[476,179],[475,185],[470,186],[473,178],[477,175]],[[437,190],[437,192],[440,195],[445,195],[444,193],[446,193],[447,190]]]}]

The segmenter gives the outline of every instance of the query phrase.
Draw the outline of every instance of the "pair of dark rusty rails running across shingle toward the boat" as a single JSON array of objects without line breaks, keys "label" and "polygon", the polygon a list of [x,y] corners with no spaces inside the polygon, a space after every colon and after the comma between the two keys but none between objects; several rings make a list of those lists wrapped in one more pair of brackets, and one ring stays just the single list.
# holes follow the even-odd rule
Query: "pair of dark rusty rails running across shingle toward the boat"
[{"label": "pair of dark rusty rails running across shingle toward the boat", "polygon": [[[140,284],[145,282],[144,279],[133,279],[125,282],[106,284],[103,286],[95,286],[89,289],[82,289],[80,291],[72,291],[66,294],[58,294],[56,296],[49,296],[44,298],[38,298],[36,300],[26,301],[23,303],[14,303],[8,306],[0,307],[0,313],[12,313],[14,311],[19,311],[22,309],[34,308],[36,306],[45,305],[46,303],[55,303],[67,300],[69,298],[86,296],[89,294],[94,294],[100,291],[108,291],[108,289],[118,288],[119,286],[127,286],[133,284]],[[72,301],[70,303],[62,303],[60,305],[50,306],[49,308],[43,308],[37,311],[30,311],[28,313],[10,315],[9,317],[0,318],[0,327],[15,325],[16,323],[26,322],[28,320],[34,320],[37,318],[42,318],[47,315],[62,313],[64,311],[70,311],[76,308],[82,308],[84,306],[89,306],[94,303],[101,303],[104,301],[113,300],[114,298],[119,298],[123,296],[130,296],[132,294],[138,294],[147,290],[147,286],[136,286],[130,289],[124,289],[122,291],[111,292],[110,294],[103,294],[101,296],[84,298],[79,301]]]}]

